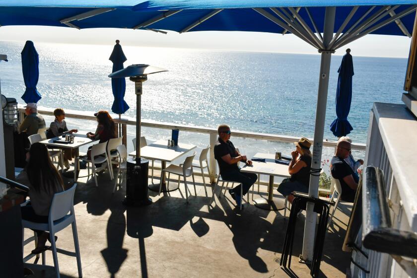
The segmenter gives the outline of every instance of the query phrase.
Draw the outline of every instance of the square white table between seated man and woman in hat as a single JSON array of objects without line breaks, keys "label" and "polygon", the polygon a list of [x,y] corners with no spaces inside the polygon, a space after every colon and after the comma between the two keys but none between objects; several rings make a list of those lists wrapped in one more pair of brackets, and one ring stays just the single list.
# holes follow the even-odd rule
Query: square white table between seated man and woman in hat
[{"label": "square white table between seated man and woman in hat", "polygon": [[274,177],[290,177],[288,165],[275,163],[275,153],[258,152],[254,158],[265,158],[265,162],[252,161],[252,165],[243,166],[240,171],[270,176],[268,185],[268,199],[263,197],[254,200],[255,206],[260,209],[280,210],[285,209],[284,200],[274,200]]}]

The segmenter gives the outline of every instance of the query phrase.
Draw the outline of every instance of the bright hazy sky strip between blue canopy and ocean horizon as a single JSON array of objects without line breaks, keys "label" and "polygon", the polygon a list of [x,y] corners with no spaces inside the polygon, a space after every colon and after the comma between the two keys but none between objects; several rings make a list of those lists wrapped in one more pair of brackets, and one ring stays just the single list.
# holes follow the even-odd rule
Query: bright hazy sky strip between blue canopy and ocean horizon
[{"label": "bright hazy sky strip between blue canopy and ocean horizon", "polygon": [[[258,51],[280,53],[317,54],[317,50],[301,39],[289,34],[257,32],[189,32],[168,34],[131,29],[82,29],[49,26],[2,26],[0,40],[73,44],[122,45],[223,49],[232,51]],[[367,35],[354,41],[335,55],[344,55],[350,48],[352,55],[378,57],[408,57],[411,39],[405,36]],[[6,53],[5,53],[6,54]]]}]

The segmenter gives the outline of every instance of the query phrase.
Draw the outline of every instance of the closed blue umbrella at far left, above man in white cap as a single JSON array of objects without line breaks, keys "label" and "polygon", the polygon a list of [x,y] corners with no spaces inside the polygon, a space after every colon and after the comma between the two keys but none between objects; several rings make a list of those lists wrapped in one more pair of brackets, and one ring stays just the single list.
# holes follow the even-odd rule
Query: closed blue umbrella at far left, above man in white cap
[{"label": "closed blue umbrella at far left, above man in white cap", "polygon": [[23,80],[26,86],[22,99],[26,103],[37,103],[42,98],[38,89],[36,89],[39,79],[39,55],[32,41],[26,41],[21,55]]}]

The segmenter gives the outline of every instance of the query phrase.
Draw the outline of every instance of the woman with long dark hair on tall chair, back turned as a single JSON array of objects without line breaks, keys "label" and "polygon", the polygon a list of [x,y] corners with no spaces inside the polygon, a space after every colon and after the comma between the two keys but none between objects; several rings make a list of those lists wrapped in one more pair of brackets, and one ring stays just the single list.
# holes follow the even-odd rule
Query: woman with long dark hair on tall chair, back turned
[{"label": "woman with long dark hair on tall chair, back turned", "polygon": [[[33,143],[26,154],[27,165],[16,180],[29,187],[30,204],[21,207],[22,219],[37,223],[48,223],[49,209],[55,193],[64,191],[64,182],[52,164],[48,148],[42,143]],[[45,246],[49,233],[34,230],[38,235],[38,246],[32,254],[49,249]]]}]

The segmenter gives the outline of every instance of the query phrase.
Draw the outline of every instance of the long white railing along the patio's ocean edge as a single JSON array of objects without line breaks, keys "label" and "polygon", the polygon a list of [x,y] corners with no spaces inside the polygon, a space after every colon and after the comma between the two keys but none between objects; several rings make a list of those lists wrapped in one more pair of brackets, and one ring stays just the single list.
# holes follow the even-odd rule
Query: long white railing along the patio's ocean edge
[{"label": "long white railing along the patio's ocean edge", "polygon": [[[20,113],[20,119],[23,119],[23,113],[24,108],[23,105],[18,106],[18,110]],[[42,115],[49,115],[53,116],[54,109],[50,108],[39,108],[38,112]],[[82,111],[74,111],[74,110],[68,110],[65,109],[65,116],[66,118],[72,118],[72,119],[79,119],[79,120],[88,120],[88,121],[97,121],[97,118],[91,115],[92,113],[89,112],[88,114],[86,112]],[[136,126],[136,120],[129,117],[123,117],[119,119],[118,115],[112,115],[113,119],[117,124],[119,124],[119,134],[124,137],[124,144],[126,144],[126,138],[127,138],[127,126]],[[216,163],[214,159],[214,152],[213,147],[214,143],[217,140],[217,129],[214,128],[207,128],[207,127],[200,127],[200,126],[186,126],[186,125],[179,125],[179,124],[172,124],[172,123],[164,123],[164,122],[157,122],[157,121],[151,121],[151,120],[142,120],[141,121],[142,127],[149,127],[149,128],[155,128],[155,129],[178,129],[180,131],[186,131],[186,132],[193,132],[193,133],[200,133],[200,134],[208,134],[209,135],[209,144],[210,144],[210,156],[209,156],[209,167],[210,167],[210,173],[209,178],[210,182],[215,181],[216,177]],[[245,131],[233,131],[233,137],[239,137],[239,138],[249,138],[249,139],[260,139],[260,140],[268,140],[268,141],[275,141],[275,142],[284,142],[284,143],[292,143],[294,141],[298,141],[300,137],[294,137],[294,136],[284,136],[284,135],[275,135],[275,134],[266,134],[266,133],[254,133],[254,132],[245,132]],[[313,139],[311,139],[313,140]],[[337,142],[336,141],[323,141],[323,146],[325,147],[336,147]],[[352,143],[352,149],[354,150],[365,150],[366,145],[362,143]],[[261,183],[263,184],[263,183]],[[265,182],[265,185],[268,183]]]}]

